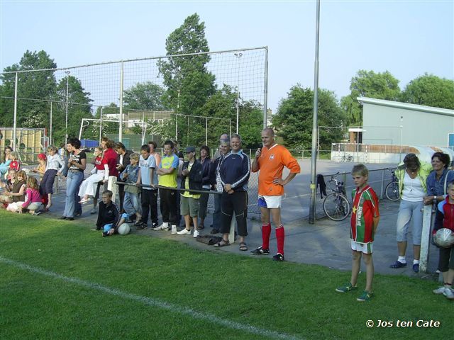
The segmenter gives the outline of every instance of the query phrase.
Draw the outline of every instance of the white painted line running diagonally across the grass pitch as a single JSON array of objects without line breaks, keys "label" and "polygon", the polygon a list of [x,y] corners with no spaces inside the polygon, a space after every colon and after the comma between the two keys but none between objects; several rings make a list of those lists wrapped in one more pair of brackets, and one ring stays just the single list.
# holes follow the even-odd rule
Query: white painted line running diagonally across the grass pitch
[{"label": "white painted line running diagonally across the grass pitch", "polygon": [[46,271],[41,268],[29,266],[26,263],[21,263],[21,262],[14,261],[11,259],[6,259],[2,256],[0,256],[0,262],[7,263],[11,266],[15,266],[16,268],[21,268],[24,271],[31,271],[32,273],[38,273],[38,274],[41,274],[44,276],[50,276],[51,278],[57,278],[57,279],[65,281],[67,283],[73,283],[75,285],[82,285],[83,287],[86,287],[86,288],[100,290],[101,292],[104,292],[107,294],[116,295],[118,297],[123,297],[123,299],[142,302],[145,305],[150,305],[150,306],[160,307],[165,310],[170,310],[170,312],[187,314],[190,317],[193,317],[194,319],[206,320],[209,322],[213,322],[214,324],[222,324],[223,326],[228,327],[230,329],[248,331],[249,333],[252,333],[252,334],[258,334],[260,336],[267,336],[267,337],[276,338],[276,339],[286,339],[286,340],[287,339],[292,339],[292,340],[301,339],[301,338],[298,338],[297,336],[293,336],[290,334],[279,333],[277,331],[270,331],[268,329],[262,329],[259,327],[250,326],[249,324],[240,324],[240,322],[235,322],[235,321],[231,321],[228,319],[222,319],[220,317],[216,317],[216,315],[214,315],[214,314],[197,312],[196,310],[192,310],[191,308],[174,305],[172,303],[153,299],[151,297],[126,293],[126,292],[123,292],[123,291],[115,289],[115,288],[109,288],[104,285],[100,285],[99,283],[92,283],[89,281],[81,280],[79,278],[70,278],[69,276],[63,276],[61,274],[54,273],[53,271]]}]

